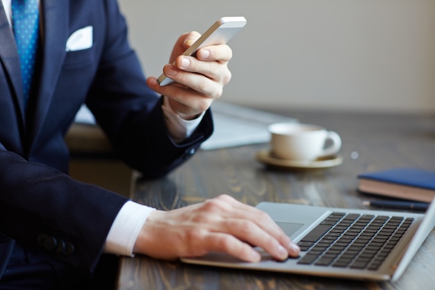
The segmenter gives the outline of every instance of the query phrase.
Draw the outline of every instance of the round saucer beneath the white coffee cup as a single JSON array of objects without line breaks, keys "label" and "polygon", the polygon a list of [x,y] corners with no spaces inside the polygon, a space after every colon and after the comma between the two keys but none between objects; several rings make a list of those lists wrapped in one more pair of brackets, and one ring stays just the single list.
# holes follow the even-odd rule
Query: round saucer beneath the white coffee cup
[{"label": "round saucer beneath the white coffee cup", "polygon": [[278,159],[274,156],[271,156],[268,149],[256,152],[255,157],[261,163],[265,163],[270,166],[298,170],[331,168],[338,166],[343,162],[343,158],[340,155],[328,156],[322,159],[316,159],[315,161],[293,161]]}]

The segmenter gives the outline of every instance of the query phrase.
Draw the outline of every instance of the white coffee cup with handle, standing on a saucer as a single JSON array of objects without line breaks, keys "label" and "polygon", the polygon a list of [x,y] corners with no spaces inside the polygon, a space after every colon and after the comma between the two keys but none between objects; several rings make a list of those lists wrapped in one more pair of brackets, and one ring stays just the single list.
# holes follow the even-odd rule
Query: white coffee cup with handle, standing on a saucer
[{"label": "white coffee cup with handle, standing on a saucer", "polygon": [[340,150],[341,138],[315,124],[275,123],[268,127],[271,155],[279,159],[314,161]]}]

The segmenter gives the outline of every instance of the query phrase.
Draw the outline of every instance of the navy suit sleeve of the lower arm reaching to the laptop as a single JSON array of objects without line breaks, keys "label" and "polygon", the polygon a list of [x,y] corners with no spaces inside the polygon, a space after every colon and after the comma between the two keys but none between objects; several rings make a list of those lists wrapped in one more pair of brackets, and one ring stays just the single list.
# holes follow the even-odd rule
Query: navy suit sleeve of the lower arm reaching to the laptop
[{"label": "navy suit sleeve of the lower arm reaching to the laptop", "polygon": [[13,152],[0,150],[0,160],[1,232],[53,259],[92,271],[127,199]]}]

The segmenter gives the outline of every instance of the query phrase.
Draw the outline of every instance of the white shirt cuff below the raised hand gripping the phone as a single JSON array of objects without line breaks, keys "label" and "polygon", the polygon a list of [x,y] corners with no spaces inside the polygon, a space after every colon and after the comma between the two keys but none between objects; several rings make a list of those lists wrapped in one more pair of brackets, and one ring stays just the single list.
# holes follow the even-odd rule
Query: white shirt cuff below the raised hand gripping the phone
[{"label": "white shirt cuff below the raised hand gripping the phone", "polygon": [[193,131],[197,129],[206,112],[202,112],[198,118],[193,120],[184,120],[172,110],[169,102],[167,102],[167,97],[163,98],[162,110],[165,116],[167,131],[175,143],[181,143],[186,138],[189,138]]}]

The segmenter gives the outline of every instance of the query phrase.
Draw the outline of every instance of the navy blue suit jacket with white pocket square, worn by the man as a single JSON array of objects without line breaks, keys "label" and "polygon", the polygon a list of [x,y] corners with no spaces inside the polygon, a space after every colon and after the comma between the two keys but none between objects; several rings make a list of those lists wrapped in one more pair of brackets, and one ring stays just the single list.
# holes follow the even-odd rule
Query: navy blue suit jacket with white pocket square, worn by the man
[{"label": "navy blue suit jacket with white pocket square, worn by the man", "polygon": [[[189,140],[172,142],[115,0],[44,0],[41,11],[37,85],[25,113],[17,47],[0,1],[0,277],[14,240],[92,271],[126,202],[67,176],[64,135],[81,104],[117,154],[148,177],[179,166],[213,129],[207,112]],[[65,51],[69,35],[86,26],[92,47]]]}]

